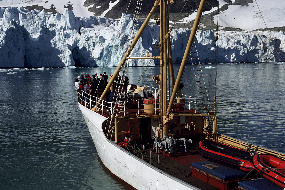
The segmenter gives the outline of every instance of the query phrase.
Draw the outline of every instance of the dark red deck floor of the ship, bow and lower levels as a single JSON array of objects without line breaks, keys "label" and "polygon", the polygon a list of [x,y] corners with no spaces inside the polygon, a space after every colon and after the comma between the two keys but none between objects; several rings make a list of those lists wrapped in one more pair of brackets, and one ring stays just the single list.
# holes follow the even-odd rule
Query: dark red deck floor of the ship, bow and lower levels
[{"label": "dark red deck floor of the ship, bow and lower levels", "polygon": [[[95,102],[92,104],[87,104],[86,102],[82,101],[80,104],[86,106],[89,109],[92,109],[96,104]],[[109,110],[108,106],[105,101],[101,103],[101,109],[97,109],[97,113],[108,117]],[[140,110],[141,111],[138,111]],[[174,113],[195,113],[193,109],[185,109],[185,108],[177,108],[173,110]],[[139,117],[148,117],[158,115],[158,113],[148,113],[147,111],[144,112],[144,107],[142,106],[130,106],[130,108],[125,109],[118,116],[123,116],[124,114],[129,113],[129,115],[137,115]],[[192,162],[200,162],[205,161],[199,154],[197,147],[192,147],[189,150],[192,154],[191,155],[184,155],[184,156],[175,156],[175,157],[168,157],[162,153],[156,154],[155,150],[153,150],[153,144],[151,143],[143,143],[143,149],[140,150],[139,148],[129,148],[129,151],[136,155],[137,157],[141,158],[142,160],[148,162],[152,166],[160,169],[163,172],[166,172],[173,177],[176,177],[190,185],[193,185],[199,189],[219,189],[213,185],[210,185],[194,176],[192,176],[192,170],[190,168]],[[135,146],[135,145],[134,145]],[[235,185],[236,186],[236,185]],[[235,189],[235,187],[229,187],[228,189]]]}]

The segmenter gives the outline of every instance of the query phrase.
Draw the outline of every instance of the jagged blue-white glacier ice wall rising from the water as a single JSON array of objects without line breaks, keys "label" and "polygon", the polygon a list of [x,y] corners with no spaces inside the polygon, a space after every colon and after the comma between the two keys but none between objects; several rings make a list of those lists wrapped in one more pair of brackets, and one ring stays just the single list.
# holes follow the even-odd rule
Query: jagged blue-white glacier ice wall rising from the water
[{"label": "jagged blue-white glacier ice wall rising from the water", "polygon": [[[142,22],[139,22],[141,26]],[[46,13],[23,7],[0,9],[0,67],[115,67],[127,49],[133,19],[76,17],[71,10]],[[139,27],[138,27],[139,28]],[[180,64],[187,45],[183,28],[172,29],[172,58]],[[147,25],[131,56],[159,55],[159,26]],[[200,63],[279,62],[285,58],[285,34],[272,31],[200,31],[195,45]],[[196,51],[196,50],[195,50]],[[192,58],[196,60],[197,54]],[[217,60],[217,61],[216,61]],[[154,66],[158,60],[130,60],[130,66]]]}]

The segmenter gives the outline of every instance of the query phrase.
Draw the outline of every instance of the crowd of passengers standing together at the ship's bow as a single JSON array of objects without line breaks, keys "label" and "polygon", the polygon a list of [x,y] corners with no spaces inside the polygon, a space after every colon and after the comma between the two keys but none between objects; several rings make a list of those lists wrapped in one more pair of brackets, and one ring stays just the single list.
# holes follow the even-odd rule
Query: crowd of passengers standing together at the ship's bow
[{"label": "crowd of passengers standing together at the ship's bow", "polygon": [[[112,76],[112,75],[111,75]],[[81,75],[78,76],[77,79],[75,79],[75,89],[76,91],[82,96],[82,100],[86,102],[89,102],[89,97],[101,97],[101,94],[103,93],[103,91],[105,90],[107,84],[108,84],[108,75],[106,74],[106,72],[104,72],[103,74],[100,73],[100,75],[98,76],[97,73],[95,75],[92,75],[92,78],[87,74],[87,75]],[[116,82],[120,81],[121,76],[116,78]],[[116,84],[116,82],[114,82],[114,86]],[[127,86],[129,84],[129,79],[128,77],[125,77],[124,79],[124,84],[123,84],[123,92],[127,91]],[[83,93],[85,92],[85,93]],[[111,96],[113,96],[114,92],[109,91],[106,95],[107,101],[110,99],[109,98],[109,94],[111,93]]]}]

